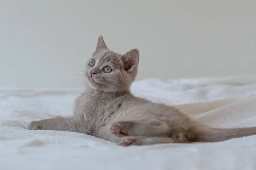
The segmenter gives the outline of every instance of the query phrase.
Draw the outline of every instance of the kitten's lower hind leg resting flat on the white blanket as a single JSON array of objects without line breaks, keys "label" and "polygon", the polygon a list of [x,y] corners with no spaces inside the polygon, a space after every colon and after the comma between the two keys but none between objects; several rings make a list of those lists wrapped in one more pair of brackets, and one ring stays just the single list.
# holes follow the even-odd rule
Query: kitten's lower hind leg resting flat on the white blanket
[{"label": "kitten's lower hind leg resting flat on the white blanket", "polygon": [[119,142],[121,146],[131,145],[149,145],[149,144],[161,144],[161,143],[175,143],[172,138],[168,137],[127,137]]}]

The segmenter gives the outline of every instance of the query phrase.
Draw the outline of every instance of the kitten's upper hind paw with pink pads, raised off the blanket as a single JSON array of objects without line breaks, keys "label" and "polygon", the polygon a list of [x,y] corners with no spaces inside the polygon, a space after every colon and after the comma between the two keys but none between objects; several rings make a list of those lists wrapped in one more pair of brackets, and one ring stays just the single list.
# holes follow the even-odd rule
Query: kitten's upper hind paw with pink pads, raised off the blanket
[{"label": "kitten's upper hind paw with pink pads, raised off the blanket", "polygon": [[110,132],[114,135],[121,137],[121,136],[128,136],[128,130],[134,125],[132,122],[117,122],[114,123],[111,128]]}]

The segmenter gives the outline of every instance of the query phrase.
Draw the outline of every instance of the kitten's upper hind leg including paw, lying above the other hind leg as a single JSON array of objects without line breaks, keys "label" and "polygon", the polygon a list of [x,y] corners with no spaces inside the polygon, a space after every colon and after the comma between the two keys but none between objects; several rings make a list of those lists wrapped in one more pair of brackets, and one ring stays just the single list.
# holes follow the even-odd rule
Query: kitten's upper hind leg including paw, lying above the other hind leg
[{"label": "kitten's upper hind leg including paw, lying above the other hind leg", "polygon": [[116,122],[111,125],[110,132],[121,136],[160,136],[170,131],[165,122]]}]

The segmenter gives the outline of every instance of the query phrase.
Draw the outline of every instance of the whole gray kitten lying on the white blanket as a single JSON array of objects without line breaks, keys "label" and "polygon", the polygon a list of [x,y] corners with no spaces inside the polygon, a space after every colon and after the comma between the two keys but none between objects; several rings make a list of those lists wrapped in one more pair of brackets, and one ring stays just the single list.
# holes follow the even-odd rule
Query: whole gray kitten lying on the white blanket
[{"label": "whole gray kitten lying on the white blanket", "polygon": [[74,114],[33,121],[29,130],[84,133],[122,146],[158,143],[218,142],[256,134],[256,127],[220,129],[200,125],[172,106],[131,94],[139,51],[110,51],[103,37],[86,63],[87,89],[76,99]]}]

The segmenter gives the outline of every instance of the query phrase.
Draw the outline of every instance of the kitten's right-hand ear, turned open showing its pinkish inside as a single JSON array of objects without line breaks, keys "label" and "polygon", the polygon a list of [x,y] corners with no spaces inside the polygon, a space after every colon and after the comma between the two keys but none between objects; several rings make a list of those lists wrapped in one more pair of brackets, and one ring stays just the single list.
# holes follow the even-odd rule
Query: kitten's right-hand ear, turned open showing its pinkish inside
[{"label": "kitten's right-hand ear, turned open showing its pinkish inside", "polygon": [[128,72],[134,71],[139,63],[140,53],[138,49],[132,49],[122,56],[122,60],[125,64],[125,70]]}]

